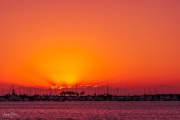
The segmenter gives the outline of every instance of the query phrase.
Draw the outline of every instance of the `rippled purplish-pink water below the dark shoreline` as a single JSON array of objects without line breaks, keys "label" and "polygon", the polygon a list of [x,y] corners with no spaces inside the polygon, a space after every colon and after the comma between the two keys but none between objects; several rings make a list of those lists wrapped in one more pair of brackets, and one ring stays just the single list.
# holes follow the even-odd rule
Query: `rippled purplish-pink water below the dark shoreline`
[{"label": "rippled purplish-pink water below the dark shoreline", "polygon": [[0,119],[180,120],[180,102],[0,102]]}]

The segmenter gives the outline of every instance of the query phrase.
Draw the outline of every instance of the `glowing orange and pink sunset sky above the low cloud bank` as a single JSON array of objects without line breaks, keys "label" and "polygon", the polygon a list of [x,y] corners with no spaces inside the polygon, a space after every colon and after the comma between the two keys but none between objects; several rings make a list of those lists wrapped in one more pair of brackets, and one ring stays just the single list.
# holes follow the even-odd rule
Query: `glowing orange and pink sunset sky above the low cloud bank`
[{"label": "glowing orange and pink sunset sky above the low cloud bank", "polygon": [[179,0],[1,0],[0,82],[180,84]]}]

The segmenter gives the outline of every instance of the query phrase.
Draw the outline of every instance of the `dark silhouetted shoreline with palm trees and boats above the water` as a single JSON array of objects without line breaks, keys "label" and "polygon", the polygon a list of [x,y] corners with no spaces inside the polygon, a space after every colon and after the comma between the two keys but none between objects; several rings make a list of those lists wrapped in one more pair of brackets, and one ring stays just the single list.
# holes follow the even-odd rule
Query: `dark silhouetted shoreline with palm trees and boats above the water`
[{"label": "dark silhouetted shoreline with palm trees and boats above the water", "polygon": [[180,94],[144,94],[117,96],[111,94],[85,95],[85,92],[66,91],[60,95],[17,95],[14,90],[12,94],[0,96],[0,101],[180,101]]}]

